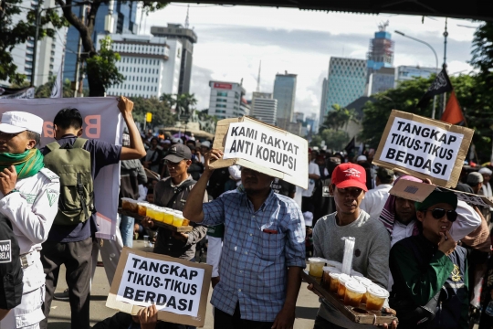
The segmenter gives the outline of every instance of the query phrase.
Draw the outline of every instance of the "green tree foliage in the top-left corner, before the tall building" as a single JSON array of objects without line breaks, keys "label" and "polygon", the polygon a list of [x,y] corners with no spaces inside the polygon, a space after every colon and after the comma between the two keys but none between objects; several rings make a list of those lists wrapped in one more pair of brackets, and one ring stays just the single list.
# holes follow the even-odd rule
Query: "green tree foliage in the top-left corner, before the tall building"
[{"label": "green tree foliage in the top-left corner, before the tall building", "polygon": [[[22,85],[26,80],[26,75],[17,72],[17,66],[12,57],[12,49],[18,44],[25,43],[28,39],[32,40],[36,35],[36,11],[34,9],[27,12],[26,20],[13,23],[14,16],[26,10],[19,6],[22,4],[22,0],[0,0],[0,80],[8,80],[11,84],[16,85]],[[39,0],[38,4],[43,5],[43,1]],[[68,26],[68,22],[63,17],[58,16],[56,11],[46,10],[42,13],[39,39],[55,37],[58,28]],[[50,27],[42,28],[48,23],[51,23]]]}]

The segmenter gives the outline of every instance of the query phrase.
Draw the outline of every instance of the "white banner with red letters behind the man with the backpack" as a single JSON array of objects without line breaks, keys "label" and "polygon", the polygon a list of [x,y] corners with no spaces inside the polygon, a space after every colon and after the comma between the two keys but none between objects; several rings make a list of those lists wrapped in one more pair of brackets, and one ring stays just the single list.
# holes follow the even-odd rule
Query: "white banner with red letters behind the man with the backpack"
[{"label": "white banner with red letters behind the man with the backpack", "polygon": [[[122,117],[115,97],[53,98],[33,100],[0,99],[0,114],[5,111],[26,111],[43,118],[41,146],[55,141],[53,119],[64,108],[76,108],[83,118],[83,135],[88,139],[121,145]],[[104,122],[104,125],[103,125]],[[104,129],[102,129],[104,128]],[[116,239],[120,165],[108,165],[94,181],[95,206],[100,232],[98,238]]]}]

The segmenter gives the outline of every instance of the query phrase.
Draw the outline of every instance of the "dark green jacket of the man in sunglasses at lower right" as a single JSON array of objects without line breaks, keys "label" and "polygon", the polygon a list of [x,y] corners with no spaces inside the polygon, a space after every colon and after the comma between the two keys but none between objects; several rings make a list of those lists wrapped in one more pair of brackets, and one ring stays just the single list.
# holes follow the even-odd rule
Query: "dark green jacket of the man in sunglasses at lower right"
[{"label": "dark green jacket of the man in sunglasses at lower right", "polygon": [[[397,242],[390,252],[392,296],[424,306],[440,291],[434,323],[429,328],[468,328],[466,249],[446,256],[420,234]],[[392,305],[391,305],[392,307]],[[399,314],[397,314],[399,317]]]}]

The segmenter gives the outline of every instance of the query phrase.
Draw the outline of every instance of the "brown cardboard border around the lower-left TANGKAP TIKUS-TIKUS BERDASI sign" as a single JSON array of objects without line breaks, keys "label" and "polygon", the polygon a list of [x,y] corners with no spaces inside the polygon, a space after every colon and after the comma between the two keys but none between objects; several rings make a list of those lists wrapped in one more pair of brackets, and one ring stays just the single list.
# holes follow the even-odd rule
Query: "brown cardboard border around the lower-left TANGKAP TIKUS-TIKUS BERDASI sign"
[{"label": "brown cardboard border around the lower-left TANGKAP TIKUS-TIKUS BERDASI sign", "polygon": [[[176,314],[166,311],[158,312],[158,320],[177,323],[177,324],[186,324],[186,325],[194,325],[197,327],[202,327],[205,324],[205,313],[207,312],[207,297],[210,289],[210,282],[212,277],[212,266],[207,265],[205,263],[197,263],[197,262],[189,262],[187,260],[180,260],[173,257],[160,255],[148,251],[141,251],[136,249],[131,249],[128,247],[124,247],[121,250],[120,260],[118,262],[117,270],[115,272],[115,276],[113,277],[113,281],[110,287],[110,293],[108,294],[108,299],[106,300],[106,307],[110,309],[119,310],[124,313],[131,313],[132,315],[137,314],[139,310],[143,308],[143,306],[132,305],[128,302],[121,302],[116,300],[116,296],[118,294],[118,289],[120,287],[121,278],[123,277],[123,271],[125,270],[125,264],[129,257],[129,254],[135,254],[141,257],[150,258],[149,254],[153,255],[154,259],[164,260],[164,261],[173,261],[185,266],[196,267],[199,269],[204,269],[204,281],[202,282],[202,292],[200,295],[200,303],[199,303],[199,312],[197,313],[197,317],[194,318],[189,315]],[[155,256],[154,256],[155,255]],[[156,257],[157,256],[157,257]],[[129,312],[131,310],[131,312]],[[202,310],[202,312],[201,312]]]}]

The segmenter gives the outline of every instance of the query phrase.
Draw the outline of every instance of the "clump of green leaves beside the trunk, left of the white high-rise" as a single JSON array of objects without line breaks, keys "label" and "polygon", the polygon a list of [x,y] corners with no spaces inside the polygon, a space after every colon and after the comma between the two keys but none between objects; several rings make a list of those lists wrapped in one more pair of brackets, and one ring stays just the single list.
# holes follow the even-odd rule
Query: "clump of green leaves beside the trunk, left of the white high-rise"
[{"label": "clump of green leaves beside the trunk, left of the white high-rise", "polygon": [[121,60],[121,56],[112,50],[111,44],[110,37],[100,39],[99,54],[86,60],[87,73],[96,75],[105,90],[125,80],[116,66],[116,62]]}]

